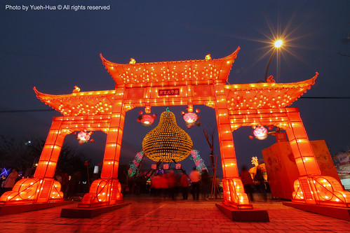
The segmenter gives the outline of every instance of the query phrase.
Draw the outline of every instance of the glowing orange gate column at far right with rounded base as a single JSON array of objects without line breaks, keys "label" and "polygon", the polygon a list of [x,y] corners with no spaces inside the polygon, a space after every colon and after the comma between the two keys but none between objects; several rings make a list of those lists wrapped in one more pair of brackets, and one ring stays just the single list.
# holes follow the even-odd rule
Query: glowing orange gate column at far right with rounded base
[{"label": "glowing orange gate column at far right with rounded base", "polygon": [[298,108],[286,108],[290,127],[286,128],[300,177],[294,182],[293,202],[349,207],[350,192],[335,178],[322,176],[305,132]]}]

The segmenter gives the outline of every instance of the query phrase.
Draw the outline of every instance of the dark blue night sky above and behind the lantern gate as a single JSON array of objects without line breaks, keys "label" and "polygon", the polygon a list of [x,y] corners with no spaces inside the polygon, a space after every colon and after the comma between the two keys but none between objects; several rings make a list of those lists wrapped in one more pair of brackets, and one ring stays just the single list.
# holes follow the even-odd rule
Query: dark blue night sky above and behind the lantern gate
[{"label": "dark blue night sky above and behind the lantern gate", "polygon": [[[45,139],[57,111],[36,99],[39,92],[72,93],[113,90],[114,80],[102,65],[100,53],[111,62],[164,62],[225,57],[239,46],[229,83],[257,83],[272,52],[274,38],[284,45],[274,55],[268,75],[277,83],[307,80],[319,73],[316,84],[303,97],[345,97],[299,99],[292,107],[300,115],[310,140],[325,140],[330,153],[349,150],[350,144],[350,1],[17,1],[1,0],[0,10],[0,134]],[[30,5],[50,4],[56,10],[31,10]],[[109,10],[58,10],[58,5],[109,6]],[[6,5],[20,10],[6,9]],[[22,5],[29,6],[22,10]],[[347,99],[346,99],[347,97]],[[171,106],[177,123],[194,141],[194,148],[210,166],[210,148],[202,127],[186,129],[180,111]],[[154,107],[152,113],[165,111]],[[215,111],[201,110],[201,123],[213,129]],[[152,127],[137,123],[134,108],[126,113],[121,164],[128,164],[142,150],[142,139]],[[251,167],[251,157],[276,142],[250,140],[251,127],[234,132],[238,167]],[[95,141],[78,146],[74,135],[65,143],[83,150],[97,164],[102,161],[106,135],[93,134]],[[220,149],[215,133],[215,155]],[[149,169],[146,160],[142,169]],[[219,160],[218,167],[221,162]],[[182,162],[189,171],[194,166]],[[220,171],[221,174],[221,171]]]}]

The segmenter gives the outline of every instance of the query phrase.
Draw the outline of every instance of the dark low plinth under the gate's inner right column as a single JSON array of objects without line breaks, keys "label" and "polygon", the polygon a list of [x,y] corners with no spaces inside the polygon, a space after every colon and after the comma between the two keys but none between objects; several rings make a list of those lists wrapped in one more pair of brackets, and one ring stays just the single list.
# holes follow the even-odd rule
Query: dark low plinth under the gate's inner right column
[{"label": "dark low plinth under the gate's inner right column", "polygon": [[216,204],[217,208],[231,218],[234,222],[261,222],[267,223],[270,221],[269,213],[262,209],[235,209],[224,204]]}]

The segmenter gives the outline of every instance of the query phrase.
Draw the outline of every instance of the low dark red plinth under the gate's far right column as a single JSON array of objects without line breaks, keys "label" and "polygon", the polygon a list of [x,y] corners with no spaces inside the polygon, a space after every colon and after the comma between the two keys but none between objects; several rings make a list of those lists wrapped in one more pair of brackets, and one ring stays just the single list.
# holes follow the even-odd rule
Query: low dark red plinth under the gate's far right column
[{"label": "low dark red plinth under the gate's far right column", "polygon": [[318,213],[323,216],[350,221],[350,208],[337,206],[321,206],[316,204],[304,204],[297,202],[283,202],[283,205],[290,206],[296,209],[302,209],[303,211]]}]

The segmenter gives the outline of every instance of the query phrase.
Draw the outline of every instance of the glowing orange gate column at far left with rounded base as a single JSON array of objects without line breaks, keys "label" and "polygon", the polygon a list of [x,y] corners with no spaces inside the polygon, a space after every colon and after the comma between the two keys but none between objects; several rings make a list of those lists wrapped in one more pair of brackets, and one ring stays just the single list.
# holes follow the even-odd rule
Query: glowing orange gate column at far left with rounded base
[{"label": "glowing orange gate column at far left with rounded base", "polygon": [[50,132],[41,153],[34,178],[23,178],[13,186],[12,191],[5,192],[0,197],[0,204],[24,204],[63,200],[61,185],[55,181],[58,157],[65,134],[60,131],[62,120],[53,118]]}]

